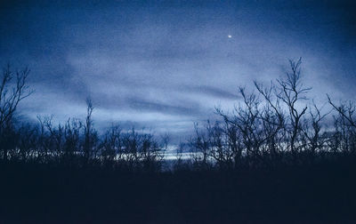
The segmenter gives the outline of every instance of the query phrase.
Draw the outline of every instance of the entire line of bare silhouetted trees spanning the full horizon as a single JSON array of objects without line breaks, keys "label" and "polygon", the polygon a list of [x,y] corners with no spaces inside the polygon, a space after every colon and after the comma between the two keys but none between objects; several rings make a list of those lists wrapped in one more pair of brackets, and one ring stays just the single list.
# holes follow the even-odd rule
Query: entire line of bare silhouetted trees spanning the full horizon
[{"label": "entire line of bare silhouetted trees spanning the full horizon", "polygon": [[[308,100],[301,60],[290,61],[286,76],[255,91],[239,88],[239,104],[220,120],[195,124],[195,135],[176,149],[176,160],[165,160],[167,135],[122,130],[111,126],[99,135],[93,126],[93,103],[86,101],[83,120],[69,118],[53,124],[52,116],[37,116],[37,124],[17,121],[16,109],[32,91],[29,70],[3,71],[0,85],[0,158],[10,162],[101,166],[127,171],[160,172],[166,163],[174,170],[237,170],[322,163],[356,155],[356,118],[352,101],[336,105],[329,97],[319,107]],[[325,111],[325,108],[330,108]],[[190,152],[183,158],[182,152]]]}]

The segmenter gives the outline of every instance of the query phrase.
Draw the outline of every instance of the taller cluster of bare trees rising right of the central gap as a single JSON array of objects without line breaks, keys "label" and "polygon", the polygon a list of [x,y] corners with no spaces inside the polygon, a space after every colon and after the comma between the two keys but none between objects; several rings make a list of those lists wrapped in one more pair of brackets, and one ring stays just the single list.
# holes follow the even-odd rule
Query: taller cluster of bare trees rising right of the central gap
[{"label": "taller cluster of bare trees rising right of the central gap", "polygon": [[229,113],[216,108],[221,121],[195,125],[190,147],[203,167],[236,169],[310,165],[356,156],[356,107],[349,100],[323,106],[308,99],[301,60],[290,61],[286,76],[255,91],[239,88],[240,103]]}]

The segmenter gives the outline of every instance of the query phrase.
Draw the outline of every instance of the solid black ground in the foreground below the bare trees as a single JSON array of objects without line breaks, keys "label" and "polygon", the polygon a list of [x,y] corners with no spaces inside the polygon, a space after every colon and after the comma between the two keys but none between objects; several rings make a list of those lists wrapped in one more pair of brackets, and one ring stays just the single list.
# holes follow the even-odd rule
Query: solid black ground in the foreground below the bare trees
[{"label": "solid black ground in the foreground below the bare trees", "polygon": [[120,172],[1,164],[1,223],[355,223],[354,161]]}]

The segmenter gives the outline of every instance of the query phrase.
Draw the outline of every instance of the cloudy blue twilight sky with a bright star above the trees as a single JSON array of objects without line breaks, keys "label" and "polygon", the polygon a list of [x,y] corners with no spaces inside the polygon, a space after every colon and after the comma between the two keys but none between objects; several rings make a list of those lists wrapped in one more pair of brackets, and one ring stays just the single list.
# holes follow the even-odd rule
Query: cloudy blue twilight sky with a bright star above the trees
[{"label": "cloudy blue twilight sky with a bright star above the trees", "polygon": [[238,86],[303,58],[316,101],[356,94],[352,1],[2,1],[0,63],[28,66],[20,114],[180,135],[231,108]]}]

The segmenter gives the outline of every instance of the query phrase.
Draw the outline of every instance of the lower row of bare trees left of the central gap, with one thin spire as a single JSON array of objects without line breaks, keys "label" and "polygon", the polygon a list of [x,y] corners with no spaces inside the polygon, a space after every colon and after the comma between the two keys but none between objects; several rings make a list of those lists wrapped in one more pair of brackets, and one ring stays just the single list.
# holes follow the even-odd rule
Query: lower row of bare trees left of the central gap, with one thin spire
[{"label": "lower row of bare trees left of the central gap, with one thin spire", "polygon": [[87,100],[85,121],[69,118],[53,124],[53,116],[37,116],[38,124],[20,124],[4,135],[4,161],[105,166],[129,171],[161,170],[168,137],[156,139],[150,132],[134,128],[123,131],[112,125],[103,136],[93,127],[93,105]]}]

